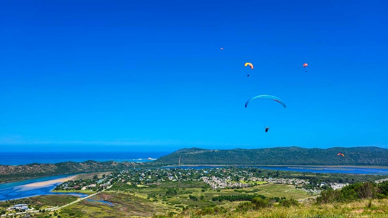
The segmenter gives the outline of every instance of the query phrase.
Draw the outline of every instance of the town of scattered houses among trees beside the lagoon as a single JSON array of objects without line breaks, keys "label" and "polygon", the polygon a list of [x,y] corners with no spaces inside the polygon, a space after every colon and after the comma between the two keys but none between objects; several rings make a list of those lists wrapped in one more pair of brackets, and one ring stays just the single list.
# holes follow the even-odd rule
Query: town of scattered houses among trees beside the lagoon
[{"label": "town of scattered houses among trees beside the lagoon", "polygon": [[[319,194],[322,189],[327,189],[328,187],[340,189],[349,184],[315,182],[311,179],[281,178],[281,176],[279,171],[261,170],[253,167],[135,169],[115,171],[108,175],[103,174],[101,178],[95,175],[93,179],[70,180],[58,185],[54,190],[98,192],[115,183],[127,186],[143,186],[156,185],[163,181],[203,181],[212,189],[240,189],[274,183],[293,185],[296,189],[302,189],[307,193]],[[290,176],[287,175],[287,177]]]}]

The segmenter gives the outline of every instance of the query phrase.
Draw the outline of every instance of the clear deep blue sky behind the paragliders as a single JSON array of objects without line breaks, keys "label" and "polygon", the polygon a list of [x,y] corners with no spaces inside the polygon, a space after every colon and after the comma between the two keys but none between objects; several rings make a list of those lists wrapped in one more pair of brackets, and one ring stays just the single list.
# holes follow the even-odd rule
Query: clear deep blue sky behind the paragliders
[{"label": "clear deep blue sky behind the paragliders", "polygon": [[[3,0],[0,146],[388,148],[387,11],[385,0]],[[287,108],[244,108],[258,95]]]}]

